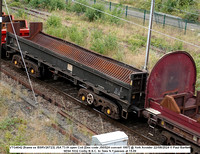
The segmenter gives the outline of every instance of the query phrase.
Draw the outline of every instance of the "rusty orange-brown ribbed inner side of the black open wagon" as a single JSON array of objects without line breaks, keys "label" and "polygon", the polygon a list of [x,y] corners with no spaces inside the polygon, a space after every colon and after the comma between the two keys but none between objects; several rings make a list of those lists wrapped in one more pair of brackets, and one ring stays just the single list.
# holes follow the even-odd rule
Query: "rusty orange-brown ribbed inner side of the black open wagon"
[{"label": "rusty orange-brown ribbed inner side of the black open wagon", "polygon": [[98,56],[93,52],[67,44],[64,41],[56,40],[43,33],[36,34],[31,40],[51,51],[66,56],[73,61],[86,65],[128,84],[131,81],[130,75],[136,71],[136,69],[134,70],[129,67],[121,66],[116,62],[109,61],[108,58]]}]

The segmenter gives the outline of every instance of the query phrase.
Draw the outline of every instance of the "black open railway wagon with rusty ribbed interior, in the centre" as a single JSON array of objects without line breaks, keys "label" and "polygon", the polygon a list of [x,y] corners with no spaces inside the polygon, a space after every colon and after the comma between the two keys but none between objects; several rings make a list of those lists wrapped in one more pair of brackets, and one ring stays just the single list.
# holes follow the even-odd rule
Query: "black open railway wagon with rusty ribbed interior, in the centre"
[{"label": "black open railway wagon with rusty ribbed interior, in the centre", "polygon": [[[30,35],[18,39],[33,76],[41,77],[48,69],[54,79],[61,76],[71,80],[80,87],[78,97],[83,103],[98,107],[114,119],[126,119],[129,112],[140,115],[147,72],[47,35],[42,32],[42,23],[30,23]],[[7,33],[5,48],[7,58],[23,67],[12,33]]]}]

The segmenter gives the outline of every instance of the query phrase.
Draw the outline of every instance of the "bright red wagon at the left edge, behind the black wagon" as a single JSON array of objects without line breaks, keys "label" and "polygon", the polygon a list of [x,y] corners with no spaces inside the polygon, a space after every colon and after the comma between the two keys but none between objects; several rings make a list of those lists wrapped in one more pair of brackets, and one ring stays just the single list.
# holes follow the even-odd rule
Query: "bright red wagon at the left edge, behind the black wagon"
[{"label": "bright red wagon at the left edge, behind the black wagon", "polygon": [[[14,16],[10,15],[10,18],[13,23],[20,23],[20,36],[29,36],[29,28],[26,20],[14,20]],[[10,22],[9,15],[6,15],[2,12],[2,37],[1,43],[4,44],[6,42],[6,24]]]}]

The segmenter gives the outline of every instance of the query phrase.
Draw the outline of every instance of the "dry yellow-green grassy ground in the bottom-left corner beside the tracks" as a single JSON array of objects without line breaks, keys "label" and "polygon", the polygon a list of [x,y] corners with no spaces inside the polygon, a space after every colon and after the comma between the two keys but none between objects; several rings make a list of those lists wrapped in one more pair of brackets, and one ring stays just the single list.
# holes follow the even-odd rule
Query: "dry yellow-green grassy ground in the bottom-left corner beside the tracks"
[{"label": "dry yellow-green grassy ground in the bottom-left corner beside the tracks", "polygon": [[[14,84],[13,86],[16,87]],[[9,86],[0,83],[1,154],[8,154],[10,145],[63,145],[69,142],[69,139],[65,136],[59,138],[57,131],[57,133],[52,132],[53,128],[50,123],[55,121],[54,114],[52,114],[53,118],[50,120],[47,118],[41,119],[44,116],[41,116],[40,110],[34,110],[27,116],[18,107],[21,102],[15,99],[15,95],[17,94],[11,93]],[[10,104],[9,102],[15,103]],[[14,112],[12,112],[13,110]],[[41,120],[43,121],[42,123]]]}]

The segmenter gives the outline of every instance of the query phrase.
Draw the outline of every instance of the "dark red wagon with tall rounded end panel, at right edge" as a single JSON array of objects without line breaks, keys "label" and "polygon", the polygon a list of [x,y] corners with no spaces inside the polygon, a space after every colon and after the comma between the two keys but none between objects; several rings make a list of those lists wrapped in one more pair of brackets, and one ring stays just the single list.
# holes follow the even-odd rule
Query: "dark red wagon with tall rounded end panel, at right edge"
[{"label": "dark red wagon with tall rounded end panel, at right edge", "polygon": [[196,154],[200,152],[200,91],[195,96],[195,83],[196,66],[188,53],[165,55],[148,77],[143,113],[150,134],[161,128],[167,144],[191,145]]}]

